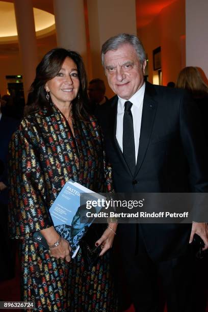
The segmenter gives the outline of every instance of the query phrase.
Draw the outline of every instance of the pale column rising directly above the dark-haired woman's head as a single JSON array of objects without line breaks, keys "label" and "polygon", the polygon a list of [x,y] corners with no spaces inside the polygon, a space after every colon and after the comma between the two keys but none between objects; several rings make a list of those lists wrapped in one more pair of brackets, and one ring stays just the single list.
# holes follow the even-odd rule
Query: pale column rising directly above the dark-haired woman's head
[{"label": "pale column rising directly above the dark-haired woman's head", "polygon": [[83,0],[54,0],[57,45],[77,51],[87,61]]}]

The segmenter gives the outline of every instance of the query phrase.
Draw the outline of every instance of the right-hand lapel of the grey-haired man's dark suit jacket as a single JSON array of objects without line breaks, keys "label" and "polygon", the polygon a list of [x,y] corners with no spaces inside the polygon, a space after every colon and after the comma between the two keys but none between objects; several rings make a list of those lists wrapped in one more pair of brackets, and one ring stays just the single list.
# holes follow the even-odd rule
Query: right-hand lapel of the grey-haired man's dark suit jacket
[{"label": "right-hand lapel of the grey-haired man's dark suit jacket", "polygon": [[143,163],[146,150],[149,144],[151,132],[152,132],[155,112],[158,106],[157,101],[153,99],[154,94],[155,94],[155,91],[153,89],[153,86],[149,83],[146,83],[144,101],[143,101],[143,109],[142,109],[142,122],[141,122],[141,130],[140,130],[139,150],[138,150],[135,175],[138,173]]}]

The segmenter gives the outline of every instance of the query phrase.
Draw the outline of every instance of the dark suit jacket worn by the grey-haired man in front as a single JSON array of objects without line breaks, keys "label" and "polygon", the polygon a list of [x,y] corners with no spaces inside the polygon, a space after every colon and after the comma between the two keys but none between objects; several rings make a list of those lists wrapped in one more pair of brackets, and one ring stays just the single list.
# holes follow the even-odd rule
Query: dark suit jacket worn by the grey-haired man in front
[{"label": "dark suit jacket worn by the grey-haired man in front", "polygon": [[[205,140],[198,111],[183,90],[146,83],[135,173],[123,158],[116,139],[118,97],[97,112],[112,164],[116,192],[207,192]],[[119,224],[120,241],[128,253],[136,249],[136,225]],[[167,259],[188,246],[191,224],[141,224],[149,255]]]}]

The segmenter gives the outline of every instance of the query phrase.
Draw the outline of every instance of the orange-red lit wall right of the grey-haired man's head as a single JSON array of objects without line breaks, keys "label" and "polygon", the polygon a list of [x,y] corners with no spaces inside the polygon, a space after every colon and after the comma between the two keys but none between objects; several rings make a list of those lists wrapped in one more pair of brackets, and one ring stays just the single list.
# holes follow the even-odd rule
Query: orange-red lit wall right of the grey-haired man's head
[{"label": "orange-red lit wall right of the grey-haired man's head", "polygon": [[169,81],[176,82],[177,75],[185,66],[185,0],[178,0],[164,8],[152,22],[138,29],[147,52],[149,64],[149,81],[153,77],[153,49],[161,46],[163,85]]}]

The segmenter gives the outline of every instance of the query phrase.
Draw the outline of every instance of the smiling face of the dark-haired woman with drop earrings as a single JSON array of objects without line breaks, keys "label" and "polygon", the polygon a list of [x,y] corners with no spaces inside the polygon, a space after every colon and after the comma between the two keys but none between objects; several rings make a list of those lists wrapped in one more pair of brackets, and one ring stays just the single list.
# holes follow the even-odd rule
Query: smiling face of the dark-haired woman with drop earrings
[{"label": "smiling face of the dark-haired woman with drop earrings", "polygon": [[67,57],[59,73],[45,84],[45,90],[50,93],[52,102],[58,106],[68,105],[77,96],[80,88],[77,66]]}]

